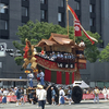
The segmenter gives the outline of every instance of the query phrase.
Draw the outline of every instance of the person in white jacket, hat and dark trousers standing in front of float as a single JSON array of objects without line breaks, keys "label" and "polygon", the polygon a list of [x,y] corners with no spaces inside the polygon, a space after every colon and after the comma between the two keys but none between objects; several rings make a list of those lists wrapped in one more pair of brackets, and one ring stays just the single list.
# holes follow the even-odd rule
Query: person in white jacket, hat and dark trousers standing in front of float
[{"label": "person in white jacket, hat and dark trousers standing in front of float", "polygon": [[44,89],[43,85],[37,85],[37,87],[40,89],[40,92],[38,94],[38,100],[40,102],[41,109],[45,109],[47,92],[46,92],[46,89]]}]

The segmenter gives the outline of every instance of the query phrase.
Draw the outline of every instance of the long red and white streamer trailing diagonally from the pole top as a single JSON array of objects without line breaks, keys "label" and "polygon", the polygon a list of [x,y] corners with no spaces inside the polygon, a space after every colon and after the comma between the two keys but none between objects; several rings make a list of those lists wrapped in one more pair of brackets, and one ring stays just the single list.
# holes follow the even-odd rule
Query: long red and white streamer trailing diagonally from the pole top
[{"label": "long red and white streamer trailing diagonally from the pole top", "polygon": [[[77,22],[80,23],[80,20],[78,20],[78,17],[77,17],[76,13],[73,11],[73,9],[72,9],[69,4],[68,4],[68,9],[71,11],[71,13],[72,13],[72,15],[73,15],[73,17],[74,17],[74,21],[77,21]],[[90,37],[90,36],[86,33],[86,31],[83,28],[83,26],[81,25],[81,23],[80,23],[80,27],[82,28],[82,31],[84,32],[85,36],[92,41],[93,45],[95,44],[95,41],[98,41],[96,38]]]}]

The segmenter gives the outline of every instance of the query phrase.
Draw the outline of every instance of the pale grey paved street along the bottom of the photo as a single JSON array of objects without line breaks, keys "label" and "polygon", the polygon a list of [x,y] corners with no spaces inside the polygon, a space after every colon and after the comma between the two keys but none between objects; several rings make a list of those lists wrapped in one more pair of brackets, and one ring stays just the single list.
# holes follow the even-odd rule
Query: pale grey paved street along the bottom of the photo
[{"label": "pale grey paved street along the bottom of the photo", "polygon": [[[81,104],[72,104],[71,106],[66,105],[61,105],[61,106],[51,106],[51,105],[46,105],[45,109],[109,109],[109,100],[100,100],[99,104],[94,104],[93,100],[82,100]],[[0,109],[40,109],[37,108],[37,105],[31,105],[26,102],[23,106],[16,107],[15,104],[7,104],[2,105],[0,104]]]}]

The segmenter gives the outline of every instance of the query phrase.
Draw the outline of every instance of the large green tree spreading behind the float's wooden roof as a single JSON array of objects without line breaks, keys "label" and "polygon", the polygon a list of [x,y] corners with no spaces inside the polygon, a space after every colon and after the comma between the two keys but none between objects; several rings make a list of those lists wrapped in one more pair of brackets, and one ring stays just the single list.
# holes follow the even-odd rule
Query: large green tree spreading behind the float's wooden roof
[{"label": "large green tree spreading behind the float's wooden roof", "polygon": [[[38,21],[36,21],[36,23],[33,23],[32,21],[29,21],[27,22],[27,24],[23,26],[19,26],[19,32],[16,33],[16,35],[19,35],[21,43],[13,41],[13,45],[15,46],[15,48],[20,49],[21,53],[23,55],[25,38],[31,40],[32,45],[37,45],[37,43],[41,40],[43,38],[48,39],[51,33],[66,35],[68,28],[61,27],[60,25],[53,25],[52,23],[44,23],[44,22],[38,22]],[[87,33],[92,37],[95,37],[96,39],[98,39],[98,43],[101,41],[99,40],[100,36],[97,33],[95,34],[90,32],[87,32]],[[71,39],[74,39],[73,26],[69,27],[69,37]],[[84,51],[86,59],[90,62],[95,62],[99,56],[99,50],[97,48],[98,43],[95,43],[95,45],[92,46],[92,43],[89,41],[89,39],[87,39],[84,33],[82,33],[82,37],[75,37],[76,43],[80,43],[82,39],[86,44],[86,49]],[[23,57],[16,57],[14,60],[19,65],[23,63]]]}]

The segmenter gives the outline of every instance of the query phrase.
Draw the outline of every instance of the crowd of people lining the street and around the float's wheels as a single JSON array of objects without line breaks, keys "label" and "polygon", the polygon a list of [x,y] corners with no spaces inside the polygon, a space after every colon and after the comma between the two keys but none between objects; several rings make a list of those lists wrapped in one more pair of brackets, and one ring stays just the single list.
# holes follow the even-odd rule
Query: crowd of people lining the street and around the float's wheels
[{"label": "crowd of people lining the street and around the float's wheels", "polygon": [[[29,97],[28,100],[31,101],[31,104],[36,104],[38,102],[38,94],[39,94],[39,88],[34,89],[29,92]],[[69,101],[69,105],[71,105],[72,101],[72,88],[69,86],[68,90],[65,92],[64,89],[60,88],[59,89],[59,105],[61,104],[62,97],[64,96],[65,100]],[[0,88],[0,96],[2,97],[2,104],[7,104],[7,96],[16,96],[16,106],[19,106],[19,104],[23,105],[25,104],[24,101],[24,95],[26,95],[27,92],[24,88],[17,88],[17,87],[11,87],[11,88]],[[109,99],[109,87],[107,88],[106,86],[104,86],[104,88],[98,88],[97,86],[95,88],[90,87],[90,88],[86,88],[83,89],[83,94],[93,94],[95,96],[94,101],[96,102],[96,100],[99,102],[99,96],[98,94],[102,94],[104,95],[104,99],[107,100]],[[57,97],[57,94],[53,89],[53,87],[51,87],[51,102],[52,105],[56,105],[55,98]],[[64,101],[63,101],[64,102]]]}]

